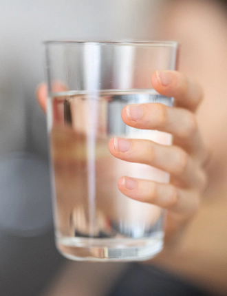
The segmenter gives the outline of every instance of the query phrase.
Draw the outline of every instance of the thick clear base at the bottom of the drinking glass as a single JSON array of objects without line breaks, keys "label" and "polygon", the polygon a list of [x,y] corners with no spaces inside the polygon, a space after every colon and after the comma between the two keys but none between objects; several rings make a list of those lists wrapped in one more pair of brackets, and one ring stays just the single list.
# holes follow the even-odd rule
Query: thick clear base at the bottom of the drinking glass
[{"label": "thick clear base at the bottom of the drinking glass", "polygon": [[141,261],[151,259],[162,250],[163,233],[139,240],[57,237],[56,246],[58,251],[70,260]]}]

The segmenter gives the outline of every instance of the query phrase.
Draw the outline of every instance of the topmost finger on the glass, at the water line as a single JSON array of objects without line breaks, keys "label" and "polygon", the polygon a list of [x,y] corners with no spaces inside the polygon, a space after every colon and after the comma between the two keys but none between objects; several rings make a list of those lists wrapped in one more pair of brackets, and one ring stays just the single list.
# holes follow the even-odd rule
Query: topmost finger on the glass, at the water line
[{"label": "topmost finger on the glass, at the water line", "polygon": [[158,93],[173,96],[176,106],[191,111],[197,109],[203,98],[202,88],[177,71],[157,71],[153,73],[151,83]]}]

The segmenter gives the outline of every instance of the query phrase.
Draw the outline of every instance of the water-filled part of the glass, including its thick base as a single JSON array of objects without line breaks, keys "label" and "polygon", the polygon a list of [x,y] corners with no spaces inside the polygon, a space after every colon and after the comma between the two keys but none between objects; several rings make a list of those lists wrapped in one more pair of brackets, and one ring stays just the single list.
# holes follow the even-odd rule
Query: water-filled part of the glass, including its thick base
[{"label": "water-filled part of the glass, including its thick base", "polygon": [[62,92],[47,107],[56,246],[74,260],[144,260],[162,249],[164,212],[120,193],[118,178],[169,182],[159,169],[114,158],[113,136],[146,138],[164,145],[171,136],[128,127],[121,110],[132,103],[164,103],[153,90]]}]

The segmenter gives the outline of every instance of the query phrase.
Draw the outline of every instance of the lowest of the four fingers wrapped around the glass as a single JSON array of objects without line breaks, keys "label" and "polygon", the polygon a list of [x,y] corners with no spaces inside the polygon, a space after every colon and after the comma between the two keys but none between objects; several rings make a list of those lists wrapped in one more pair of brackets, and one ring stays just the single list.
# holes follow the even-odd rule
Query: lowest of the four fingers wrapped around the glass
[{"label": "lowest of the four fingers wrapped around the glass", "polygon": [[118,180],[120,191],[140,202],[155,204],[173,213],[192,215],[199,206],[199,195],[191,190],[179,189],[172,184],[161,184],[151,180],[122,177]]}]

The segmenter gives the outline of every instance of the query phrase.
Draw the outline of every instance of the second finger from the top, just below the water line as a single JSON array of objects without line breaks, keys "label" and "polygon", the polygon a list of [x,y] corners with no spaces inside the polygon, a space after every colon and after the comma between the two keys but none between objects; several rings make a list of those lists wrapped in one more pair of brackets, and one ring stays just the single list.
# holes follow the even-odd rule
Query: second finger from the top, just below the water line
[{"label": "second finger from the top, just below the water line", "polygon": [[159,103],[127,105],[122,109],[122,120],[138,129],[155,129],[174,136],[175,143],[197,158],[204,156],[204,142],[199,134],[195,115],[180,107]]}]

